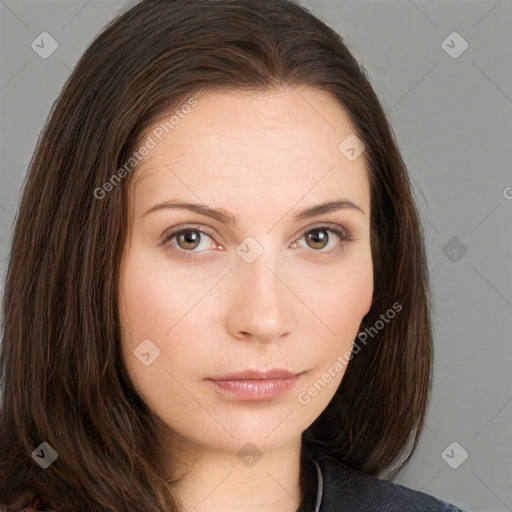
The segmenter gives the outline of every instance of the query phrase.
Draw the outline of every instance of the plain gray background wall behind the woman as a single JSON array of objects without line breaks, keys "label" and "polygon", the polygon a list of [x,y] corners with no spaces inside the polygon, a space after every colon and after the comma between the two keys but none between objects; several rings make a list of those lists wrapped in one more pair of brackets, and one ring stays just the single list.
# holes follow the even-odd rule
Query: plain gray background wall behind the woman
[{"label": "plain gray background wall behind the woman", "polygon": [[[512,2],[301,3],[367,70],[425,230],[434,381],[426,428],[397,482],[468,511],[512,510]],[[1,293],[20,189],[52,103],[126,5],[0,0]],[[59,45],[47,59],[31,48],[44,31]],[[457,58],[443,49],[463,49],[458,36],[447,39],[452,32],[468,44]]]}]

